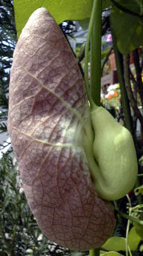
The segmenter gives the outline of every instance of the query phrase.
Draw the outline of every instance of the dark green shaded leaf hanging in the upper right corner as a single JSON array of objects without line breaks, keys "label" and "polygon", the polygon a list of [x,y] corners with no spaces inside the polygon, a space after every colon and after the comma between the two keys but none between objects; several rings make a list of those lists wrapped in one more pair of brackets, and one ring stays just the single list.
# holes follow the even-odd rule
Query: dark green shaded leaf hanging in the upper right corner
[{"label": "dark green shaded leaf hanging in the upper right corner", "polygon": [[[134,11],[138,15],[142,13],[142,5],[139,1],[122,4],[124,8]],[[131,2],[131,1],[130,1]],[[123,1],[118,1],[123,3]],[[128,54],[143,44],[143,18],[125,13],[113,6],[110,16],[117,39],[117,46],[122,54]]]}]

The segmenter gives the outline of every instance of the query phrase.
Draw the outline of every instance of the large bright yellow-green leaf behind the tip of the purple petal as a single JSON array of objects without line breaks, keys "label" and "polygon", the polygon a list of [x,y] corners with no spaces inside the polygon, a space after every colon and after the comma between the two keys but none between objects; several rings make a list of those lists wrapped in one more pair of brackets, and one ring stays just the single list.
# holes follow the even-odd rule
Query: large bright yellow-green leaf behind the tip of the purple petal
[{"label": "large bright yellow-green leaf behind the tip of the purple petal", "polygon": [[84,20],[91,15],[93,0],[14,0],[14,13],[18,37],[35,9],[44,6],[57,23],[64,20]]}]

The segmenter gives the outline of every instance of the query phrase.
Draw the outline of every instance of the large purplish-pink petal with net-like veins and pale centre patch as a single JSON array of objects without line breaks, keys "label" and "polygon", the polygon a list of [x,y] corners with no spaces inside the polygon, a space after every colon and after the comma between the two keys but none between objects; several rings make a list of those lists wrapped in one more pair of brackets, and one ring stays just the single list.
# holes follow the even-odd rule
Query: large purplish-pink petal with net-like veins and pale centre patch
[{"label": "large purplish-pink petal with net-like veins and pale centre patch", "polygon": [[83,148],[89,114],[74,54],[54,18],[39,8],[14,51],[8,130],[38,226],[72,250],[101,247],[115,226],[112,204],[98,197]]}]

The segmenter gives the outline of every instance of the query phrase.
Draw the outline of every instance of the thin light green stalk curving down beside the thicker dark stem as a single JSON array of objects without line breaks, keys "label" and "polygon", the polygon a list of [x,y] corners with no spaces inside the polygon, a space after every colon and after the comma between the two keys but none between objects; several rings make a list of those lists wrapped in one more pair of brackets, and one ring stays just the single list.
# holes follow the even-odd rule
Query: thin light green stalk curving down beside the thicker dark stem
[{"label": "thin light green stalk curving down beside the thicker dark stem", "polygon": [[[86,47],[85,47],[85,59],[84,59],[84,80],[85,80],[86,92],[88,94],[88,99],[89,99],[89,102],[91,104],[91,108],[94,106],[94,101],[92,99],[93,95],[90,93],[90,90],[89,90],[88,53],[89,53],[90,39],[91,39],[91,35],[92,35],[92,32],[93,32],[94,20],[95,20],[95,16],[98,13],[99,3],[101,4],[101,0],[94,0],[93,1],[93,8],[92,8],[92,11],[91,11],[91,18],[90,18],[90,21],[89,21],[88,35],[87,35]],[[101,19],[101,16],[100,16],[100,19]],[[98,23],[98,20],[96,20],[96,23]],[[98,39],[96,39],[96,40],[98,40]],[[100,38],[100,40],[101,40],[101,38]],[[96,62],[96,65],[97,64],[98,64],[98,62]],[[100,66],[101,66],[101,61],[100,61]],[[101,75],[101,72],[100,72],[100,75]]]}]

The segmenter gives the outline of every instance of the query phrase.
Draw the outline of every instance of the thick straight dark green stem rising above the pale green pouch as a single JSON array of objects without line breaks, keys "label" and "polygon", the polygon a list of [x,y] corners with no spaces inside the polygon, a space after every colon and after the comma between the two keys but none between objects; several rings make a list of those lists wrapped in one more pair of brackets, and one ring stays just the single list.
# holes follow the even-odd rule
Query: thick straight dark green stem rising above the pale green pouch
[{"label": "thick straight dark green stem rising above the pale green pouch", "polygon": [[101,105],[101,0],[96,0],[93,34],[91,36],[91,97],[97,106]]}]

